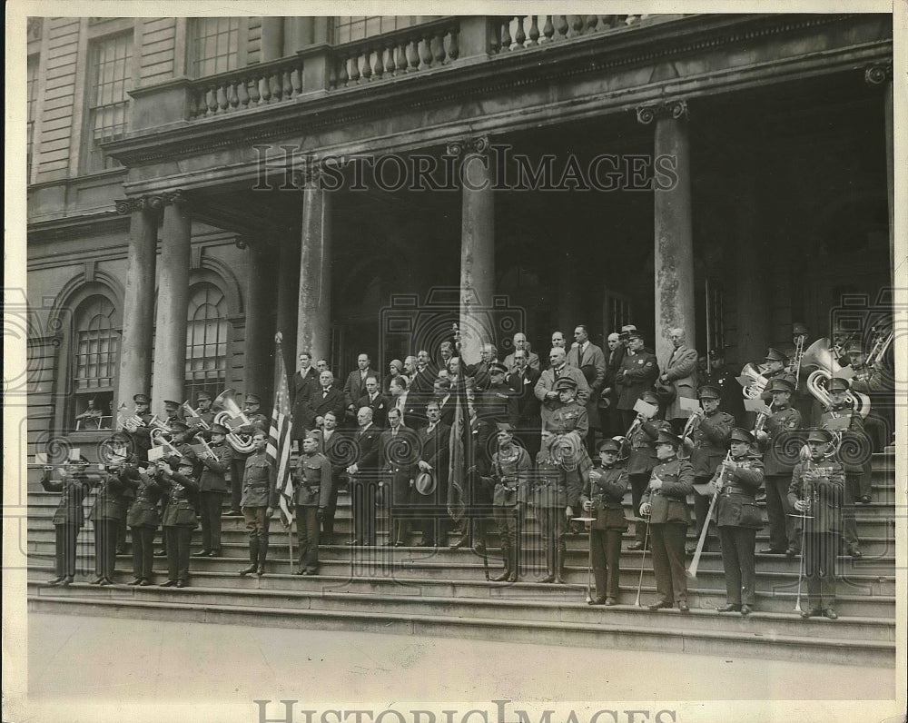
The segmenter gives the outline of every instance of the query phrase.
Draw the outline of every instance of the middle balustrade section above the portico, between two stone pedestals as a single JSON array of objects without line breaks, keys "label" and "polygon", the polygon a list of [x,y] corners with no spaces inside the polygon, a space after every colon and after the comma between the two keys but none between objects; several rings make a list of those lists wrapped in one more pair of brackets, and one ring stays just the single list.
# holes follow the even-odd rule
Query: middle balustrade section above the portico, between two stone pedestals
[{"label": "middle balustrade section above the portico, between two stone pedestals", "polygon": [[444,18],[339,45],[329,54],[328,87],[349,88],[451,64],[460,55],[459,35],[459,21]]}]

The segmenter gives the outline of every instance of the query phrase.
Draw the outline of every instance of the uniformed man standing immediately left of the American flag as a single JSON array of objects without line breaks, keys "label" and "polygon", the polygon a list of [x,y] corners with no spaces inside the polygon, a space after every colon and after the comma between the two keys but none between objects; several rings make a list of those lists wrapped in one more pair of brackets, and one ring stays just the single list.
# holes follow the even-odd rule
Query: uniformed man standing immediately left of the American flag
[{"label": "uniformed man standing immediately left of the American flag", "polygon": [[255,451],[249,455],[243,471],[241,506],[246,529],[249,530],[249,566],[240,570],[241,575],[254,572],[261,576],[265,573],[268,528],[278,501],[276,473],[265,454],[267,442],[266,432],[257,430],[252,434]]}]

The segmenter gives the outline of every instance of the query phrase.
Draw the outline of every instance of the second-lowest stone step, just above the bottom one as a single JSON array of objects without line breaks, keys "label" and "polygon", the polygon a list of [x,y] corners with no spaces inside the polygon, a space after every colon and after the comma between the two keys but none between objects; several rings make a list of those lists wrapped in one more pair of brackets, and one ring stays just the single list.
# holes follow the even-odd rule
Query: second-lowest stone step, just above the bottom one
[{"label": "second-lowest stone step, just above the bottom one", "polygon": [[[654,613],[646,607],[635,607],[634,599],[613,607],[587,605],[584,596],[572,601],[545,599],[510,598],[459,598],[451,596],[434,597],[429,594],[415,595],[400,590],[383,592],[380,595],[368,592],[353,592],[348,589],[252,589],[235,587],[201,587],[194,584],[183,589],[135,588],[125,583],[128,576],[118,576],[118,584],[102,589],[86,583],[75,583],[65,590],[51,588],[39,579],[29,579],[28,593],[33,597],[46,594],[67,597],[104,598],[111,600],[179,601],[198,606],[229,605],[252,606],[261,604],[268,608],[290,608],[311,610],[332,610],[338,612],[385,612],[398,615],[435,615],[448,618],[494,618],[536,620],[540,622],[564,622],[581,624],[609,623],[624,627],[653,623]],[[229,582],[229,580],[228,580]],[[626,596],[630,598],[630,596]],[[678,613],[678,615],[680,615]],[[715,609],[692,609],[684,617],[686,629],[724,630],[749,635],[804,635],[805,627],[814,622],[826,622],[818,635],[827,639],[873,640],[893,642],[895,623],[893,620],[873,618],[841,617],[834,625],[827,619],[804,620],[791,613],[754,612],[744,618],[735,613],[719,613]]]}]

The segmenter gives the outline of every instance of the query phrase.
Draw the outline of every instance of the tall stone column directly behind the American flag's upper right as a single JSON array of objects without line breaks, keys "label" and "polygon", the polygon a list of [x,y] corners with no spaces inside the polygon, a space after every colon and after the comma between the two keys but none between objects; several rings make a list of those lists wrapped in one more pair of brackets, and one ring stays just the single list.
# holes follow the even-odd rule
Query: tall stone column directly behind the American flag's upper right
[{"label": "tall stone column directly behind the American flag's upper right", "polygon": [[331,193],[321,188],[317,173],[307,173],[302,185],[296,349],[297,354],[306,351],[315,359],[327,359],[331,352]]}]

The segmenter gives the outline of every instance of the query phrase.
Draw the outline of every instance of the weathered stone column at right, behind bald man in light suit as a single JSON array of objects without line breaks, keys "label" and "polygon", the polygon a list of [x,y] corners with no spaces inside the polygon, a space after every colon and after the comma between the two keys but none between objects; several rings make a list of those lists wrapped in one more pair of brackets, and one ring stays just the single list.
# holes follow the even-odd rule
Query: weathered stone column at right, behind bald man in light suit
[{"label": "weathered stone column at right, behind bald man in light suit", "polygon": [[[696,343],[694,312],[694,241],[690,206],[690,145],[687,139],[687,104],[666,101],[637,108],[637,120],[655,124],[654,159],[671,163],[676,183],[659,187],[654,180],[654,272],[656,320],[654,343],[660,363],[671,354],[668,331],[684,329],[688,343]],[[660,162],[658,159],[664,159]]]}]

